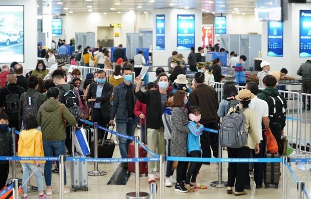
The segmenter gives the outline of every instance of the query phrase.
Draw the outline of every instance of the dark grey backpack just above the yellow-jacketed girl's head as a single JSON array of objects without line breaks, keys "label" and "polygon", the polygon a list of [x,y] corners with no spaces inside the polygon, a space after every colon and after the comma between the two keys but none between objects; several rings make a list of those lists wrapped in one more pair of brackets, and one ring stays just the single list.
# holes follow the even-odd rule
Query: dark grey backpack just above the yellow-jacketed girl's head
[{"label": "dark grey backpack just above the yellow-jacketed girl's head", "polygon": [[37,91],[32,97],[28,97],[26,92],[24,93],[24,104],[23,104],[23,123],[25,124],[26,116],[35,116],[38,114],[38,97],[40,93]]}]

